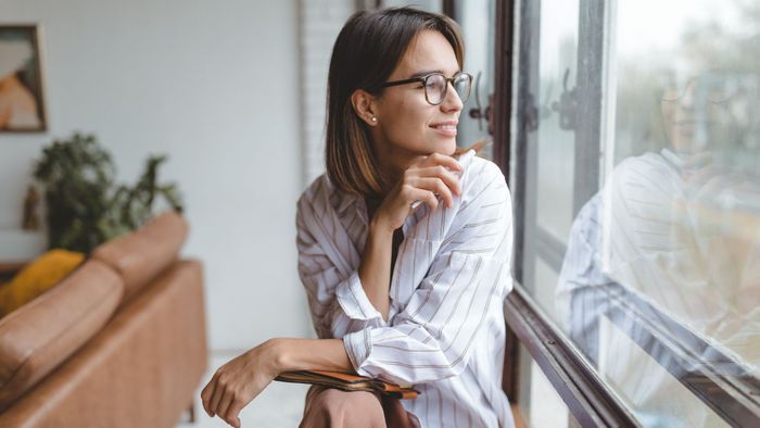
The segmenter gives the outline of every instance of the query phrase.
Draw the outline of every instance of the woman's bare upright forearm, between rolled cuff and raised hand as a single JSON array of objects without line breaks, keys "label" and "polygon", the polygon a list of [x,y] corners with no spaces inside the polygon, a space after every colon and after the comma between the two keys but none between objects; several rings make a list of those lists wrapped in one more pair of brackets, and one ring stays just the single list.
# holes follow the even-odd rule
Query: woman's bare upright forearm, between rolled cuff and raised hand
[{"label": "woman's bare upright forearm, between rolled cuff and raised hand", "polygon": [[389,289],[392,249],[393,230],[377,222],[371,222],[358,274],[365,294],[383,319],[388,319],[391,306]]}]

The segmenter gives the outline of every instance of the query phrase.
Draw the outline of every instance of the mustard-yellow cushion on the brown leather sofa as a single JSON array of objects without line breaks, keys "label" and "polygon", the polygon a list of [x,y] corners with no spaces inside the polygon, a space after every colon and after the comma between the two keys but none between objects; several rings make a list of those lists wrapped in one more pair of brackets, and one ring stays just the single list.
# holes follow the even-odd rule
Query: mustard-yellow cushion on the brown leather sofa
[{"label": "mustard-yellow cushion on the brown leather sofa", "polygon": [[84,253],[50,250],[0,288],[0,317],[42,295],[85,261]]}]

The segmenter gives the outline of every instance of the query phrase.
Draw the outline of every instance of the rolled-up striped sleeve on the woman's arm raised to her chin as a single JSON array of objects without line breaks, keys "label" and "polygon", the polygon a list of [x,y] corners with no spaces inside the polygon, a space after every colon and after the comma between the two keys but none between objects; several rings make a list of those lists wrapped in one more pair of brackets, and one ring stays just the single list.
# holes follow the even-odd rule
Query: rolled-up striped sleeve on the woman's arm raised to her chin
[{"label": "rolled-up striped sleeve on the woman's arm raised to her chin", "polygon": [[337,266],[334,260],[341,256],[339,250],[315,238],[324,227],[318,222],[311,201],[302,198],[296,215],[299,275],[308,295],[317,337],[340,339],[349,331],[385,326],[382,315],[364,292],[358,272]]}]

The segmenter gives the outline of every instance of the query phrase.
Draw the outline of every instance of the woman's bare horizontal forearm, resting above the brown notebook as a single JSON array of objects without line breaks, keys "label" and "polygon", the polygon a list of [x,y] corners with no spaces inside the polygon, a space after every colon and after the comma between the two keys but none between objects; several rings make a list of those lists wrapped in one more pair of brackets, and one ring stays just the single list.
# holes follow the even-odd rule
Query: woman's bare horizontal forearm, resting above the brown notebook
[{"label": "woman's bare horizontal forearm, resting above the brown notebook", "polygon": [[269,347],[275,372],[333,370],[355,374],[341,339],[273,339]]}]

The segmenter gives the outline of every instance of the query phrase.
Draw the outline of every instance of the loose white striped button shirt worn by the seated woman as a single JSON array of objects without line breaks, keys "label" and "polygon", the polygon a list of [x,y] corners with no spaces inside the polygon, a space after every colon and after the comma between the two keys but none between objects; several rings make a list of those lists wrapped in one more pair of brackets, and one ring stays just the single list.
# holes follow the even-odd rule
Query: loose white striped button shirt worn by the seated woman
[{"label": "loose white striped button shirt worn by the seated woman", "polygon": [[512,427],[502,390],[503,302],[511,290],[511,201],[504,175],[464,155],[454,206],[422,204],[403,225],[388,320],[364,292],[363,197],[318,177],[297,203],[299,274],[319,338],[342,338],[356,373],[414,385],[402,401],[425,427]]}]

